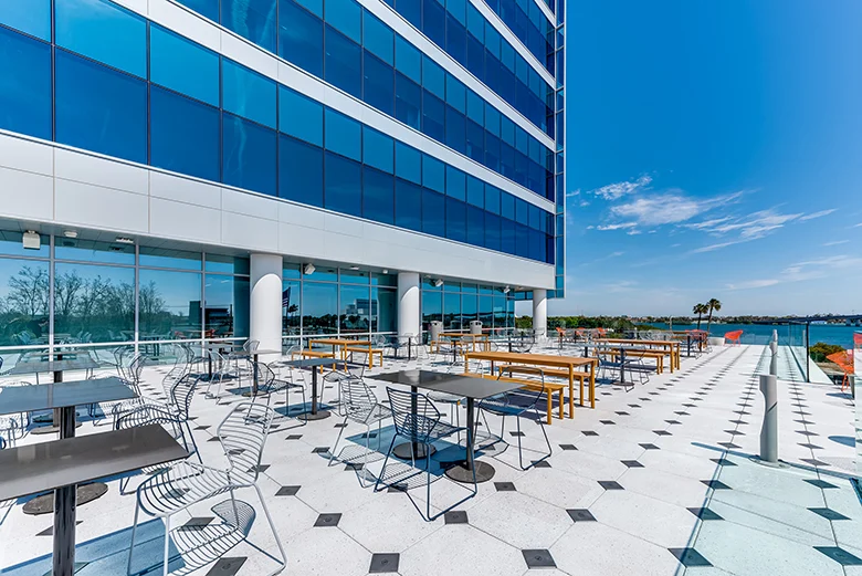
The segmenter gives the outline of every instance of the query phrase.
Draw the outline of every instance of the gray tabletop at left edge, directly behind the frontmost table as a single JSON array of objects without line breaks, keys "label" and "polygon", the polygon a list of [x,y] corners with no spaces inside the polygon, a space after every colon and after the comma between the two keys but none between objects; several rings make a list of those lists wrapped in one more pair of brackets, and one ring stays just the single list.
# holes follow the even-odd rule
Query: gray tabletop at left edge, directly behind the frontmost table
[{"label": "gray tabletop at left edge, directly behind the frontmost table", "polygon": [[135,398],[116,376],[35,386],[0,387],[0,413],[51,410]]}]

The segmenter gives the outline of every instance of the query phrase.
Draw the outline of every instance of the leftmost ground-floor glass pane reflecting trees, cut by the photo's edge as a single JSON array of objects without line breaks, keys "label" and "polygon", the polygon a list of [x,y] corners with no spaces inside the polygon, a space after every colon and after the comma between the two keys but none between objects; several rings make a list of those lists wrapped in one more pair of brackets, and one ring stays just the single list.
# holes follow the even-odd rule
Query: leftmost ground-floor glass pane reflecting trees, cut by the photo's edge
[{"label": "leftmost ground-floor glass pane reflecting trees, cut by the photo's edge", "polygon": [[0,346],[46,344],[48,262],[0,259]]}]

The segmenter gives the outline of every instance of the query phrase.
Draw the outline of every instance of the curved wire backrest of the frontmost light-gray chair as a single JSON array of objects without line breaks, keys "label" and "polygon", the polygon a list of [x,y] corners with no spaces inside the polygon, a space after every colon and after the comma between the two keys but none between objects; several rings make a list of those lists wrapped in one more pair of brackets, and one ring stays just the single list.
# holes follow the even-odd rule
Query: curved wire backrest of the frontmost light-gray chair
[{"label": "curved wire backrest of the frontmost light-gray chair", "polygon": [[242,402],[219,425],[219,441],[231,464],[231,478],[239,483],[250,485],[257,480],[257,467],[274,416],[269,406]]}]

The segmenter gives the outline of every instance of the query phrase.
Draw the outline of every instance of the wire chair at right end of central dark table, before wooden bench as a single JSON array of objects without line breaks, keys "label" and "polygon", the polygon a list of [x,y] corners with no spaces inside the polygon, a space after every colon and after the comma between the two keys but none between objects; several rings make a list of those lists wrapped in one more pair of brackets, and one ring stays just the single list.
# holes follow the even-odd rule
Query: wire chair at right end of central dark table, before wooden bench
[{"label": "wire chair at right end of central dark table, before wooden bench", "polygon": [[[501,417],[501,428],[500,428],[500,436],[498,437],[492,437],[491,442],[482,443],[480,446],[480,449],[486,449],[491,446],[494,446],[498,442],[504,442],[506,446],[508,446],[508,442],[505,440],[505,432],[506,432],[506,417],[514,417],[516,422],[516,433],[515,436],[518,439],[518,465],[522,470],[529,470],[530,468],[535,467],[537,463],[547,460],[550,458],[550,454],[553,452],[550,448],[550,440],[548,440],[548,433],[545,430],[545,418],[539,412],[538,409],[538,401],[539,398],[545,394],[545,371],[540,368],[526,368],[526,367],[518,367],[519,370],[529,370],[534,371],[538,376],[537,384],[540,384],[540,387],[530,387],[530,388],[521,388],[516,391],[512,392],[504,392],[498,396],[494,396],[491,398],[485,398],[483,400],[480,400],[479,402],[479,413],[482,417],[482,420],[485,422],[485,429],[491,430],[491,426],[487,421],[487,415],[492,413],[495,416]],[[504,373],[501,373],[497,376],[497,379],[503,377]],[[550,394],[550,392],[548,392]],[[560,398],[560,401],[563,398]],[[533,420],[538,422],[539,428],[542,429],[542,434],[545,437],[545,444],[548,447],[547,454],[543,455],[538,460],[533,460],[533,462],[529,465],[524,465],[524,448],[522,442],[523,433],[521,431],[521,419],[524,417],[527,417],[527,415],[532,412],[533,413]],[[476,419],[479,421],[479,419]],[[474,434],[476,431],[474,431]],[[475,436],[474,436],[475,438]]]}]

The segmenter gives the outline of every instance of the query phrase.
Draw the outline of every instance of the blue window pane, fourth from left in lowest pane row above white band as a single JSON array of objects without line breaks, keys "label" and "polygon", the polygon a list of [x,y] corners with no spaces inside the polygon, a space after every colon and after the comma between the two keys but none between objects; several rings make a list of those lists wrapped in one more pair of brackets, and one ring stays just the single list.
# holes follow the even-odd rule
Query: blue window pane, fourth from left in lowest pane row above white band
[{"label": "blue window pane, fourth from left in lowest pane row above white band", "polygon": [[224,114],[222,117],[224,184],[275,196],[275,132]]}]

